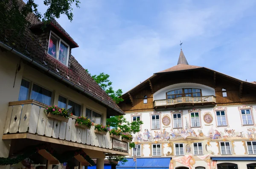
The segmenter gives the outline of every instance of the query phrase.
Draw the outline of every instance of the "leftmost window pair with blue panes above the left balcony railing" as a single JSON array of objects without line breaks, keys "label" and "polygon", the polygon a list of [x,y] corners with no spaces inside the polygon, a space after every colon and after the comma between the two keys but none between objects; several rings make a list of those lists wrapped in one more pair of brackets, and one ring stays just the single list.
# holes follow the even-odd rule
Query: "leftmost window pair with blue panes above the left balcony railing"
[{"label": "leftmost window pair with blue panes above the left balcony railing", "polygon": [[43,104],[52,104],[52,92],[36,84],[32,85],[31,96],[29,97],[30,82],[22,79],[18,101],[33,99]]}]

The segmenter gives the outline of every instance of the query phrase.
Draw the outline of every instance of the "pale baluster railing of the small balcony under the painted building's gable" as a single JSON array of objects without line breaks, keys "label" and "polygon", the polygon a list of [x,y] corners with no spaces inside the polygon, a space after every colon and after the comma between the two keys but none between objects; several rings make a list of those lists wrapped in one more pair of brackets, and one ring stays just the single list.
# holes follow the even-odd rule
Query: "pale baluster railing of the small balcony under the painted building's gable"
[{"label": "pale baluster railing of the small balcony under the painted building's gable", "polygon": [[176,104],[201,104],[201,103],[216,103],[215,96],[200,96],[200,97],[177,97],[174,99],[163,99],[163,100],[155,100],[154,107],[157,106],[168,106],[168,105],[176,105]]}]

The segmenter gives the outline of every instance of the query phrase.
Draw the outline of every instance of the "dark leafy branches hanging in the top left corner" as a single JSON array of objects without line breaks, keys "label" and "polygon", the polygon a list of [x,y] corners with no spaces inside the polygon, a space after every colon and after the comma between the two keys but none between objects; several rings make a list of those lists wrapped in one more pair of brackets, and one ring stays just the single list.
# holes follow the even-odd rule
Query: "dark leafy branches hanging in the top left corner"
[{"label": "dark leafy branches hanging in the top left corner", "polygon": [[5,34],[6,30],[13,30],[12,37],[22,35],[25,25],[30,25],[26,17],[31,12],[45,23],[59,18],[61,14],[65,14],[72,21],[73,3],[79,8],[79,0],[44,0],[44,5],[48,8],[41,14],[34,0],[26,0],[26,4],[22,0],[0,0],[0,32]]}]

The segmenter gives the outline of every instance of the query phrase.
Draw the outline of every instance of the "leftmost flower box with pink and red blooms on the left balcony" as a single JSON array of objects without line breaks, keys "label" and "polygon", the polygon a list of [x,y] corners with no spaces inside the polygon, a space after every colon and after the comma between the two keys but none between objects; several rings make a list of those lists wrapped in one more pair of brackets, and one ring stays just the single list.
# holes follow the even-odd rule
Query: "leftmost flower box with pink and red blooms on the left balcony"
[{"label": "leftmost flower box with pink and red blooms on the left balcony", "polygon": [[66,123],[68,122],[68,119],[70,118],[70,116],[73,115],[68,110],[66,110],[64,108],[60,108],[56,105],[47,107],[46,112],[47,112],[47,117],[54,118],[54,119],[60,120],[60,121],[64,121]]}]

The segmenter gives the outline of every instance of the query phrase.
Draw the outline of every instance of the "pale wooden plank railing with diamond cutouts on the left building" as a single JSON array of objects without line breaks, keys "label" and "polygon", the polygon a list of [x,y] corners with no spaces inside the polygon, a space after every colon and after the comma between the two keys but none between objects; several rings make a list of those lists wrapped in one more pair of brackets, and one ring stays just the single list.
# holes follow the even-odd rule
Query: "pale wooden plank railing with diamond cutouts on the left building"
[{"label": "pale wooden plank railing with diamond cutouts on the left building", "polygon": [[[105,149],[113,148],[109,132],[102,135],[94,132],[94,126],[91,129],[77,127],[74,118],[69,118],[67,123],[49,118],[45,108],[46,105],[34,100],[9,102],[3,134],[31,133]],[[121,141],[121,137],[116,140]]]}]

